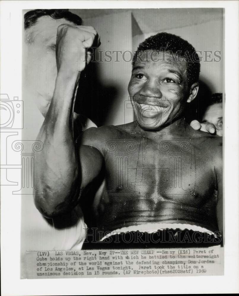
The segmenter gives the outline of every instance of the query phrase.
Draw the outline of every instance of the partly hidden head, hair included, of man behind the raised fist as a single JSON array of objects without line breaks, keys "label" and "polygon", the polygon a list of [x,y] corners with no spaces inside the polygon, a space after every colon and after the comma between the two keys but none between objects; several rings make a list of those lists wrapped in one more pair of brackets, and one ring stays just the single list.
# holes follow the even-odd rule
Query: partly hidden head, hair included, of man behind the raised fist
[{"label": "partly hidden head, hair included, of man behind the raised fist", "polygon": [[56,66],[56,36],[59,25],[82,25],[82,19],[68,9],[35,9],[24,15],[24,83],[29,96],[43,115],[52,99]]}]

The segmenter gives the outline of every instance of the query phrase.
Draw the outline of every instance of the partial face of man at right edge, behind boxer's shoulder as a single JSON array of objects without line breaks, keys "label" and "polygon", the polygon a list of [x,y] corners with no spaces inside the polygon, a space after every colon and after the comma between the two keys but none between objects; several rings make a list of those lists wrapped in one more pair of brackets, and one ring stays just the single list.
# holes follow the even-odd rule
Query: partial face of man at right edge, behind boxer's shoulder
[{"label": "partial face of man at right edge, behind boxer's shoulder", "polygon": [[222,103],[209,106],[203,116],[203,122],[213,123],[216,127],[217,135],[222,136]]}]

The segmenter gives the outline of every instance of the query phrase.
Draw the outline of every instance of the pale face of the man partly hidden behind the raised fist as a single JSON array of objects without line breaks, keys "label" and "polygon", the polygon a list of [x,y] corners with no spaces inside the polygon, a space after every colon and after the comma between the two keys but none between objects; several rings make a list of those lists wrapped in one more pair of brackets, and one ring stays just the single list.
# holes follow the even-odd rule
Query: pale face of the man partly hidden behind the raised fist
[{"label": "pale face of the man partly hidden behind the raised fist", "polygon": [[57,76],[55,45],[57,28],[61,24],[74,25],[64,18],[39,17],[36,24],[25,30],[24,83],[26,95],[36,100],[43,115],[48,110]]}]

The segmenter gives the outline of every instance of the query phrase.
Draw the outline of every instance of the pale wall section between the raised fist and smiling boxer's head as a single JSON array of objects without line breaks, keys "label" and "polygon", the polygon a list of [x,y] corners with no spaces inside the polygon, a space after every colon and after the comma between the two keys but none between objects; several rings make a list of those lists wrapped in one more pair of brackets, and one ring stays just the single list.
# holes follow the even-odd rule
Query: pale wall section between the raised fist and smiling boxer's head
[{"label": "pale wall section between the raised fist and smiling boxer's head", "polygon": [[[84,20],[84,25],[95,27],[101,36],[101,46],[99,50],[122,52],[132,50],[132,24],[131,12],[122,12],[103,17],[94,17]],[[119,54],[119,62],[98,63],[99,82],[105,87],[113,86],[117,94],[112,97],[111,114],[106,118],[104,124],[119,125],[124,123],[124,101],[128,99],[128,83],[131,75],[131,62],[126,62]],[[129,60],[130,54],[125,55],[125,60]],[[133,120],[133,112],[127,112],[126,122]]]}]

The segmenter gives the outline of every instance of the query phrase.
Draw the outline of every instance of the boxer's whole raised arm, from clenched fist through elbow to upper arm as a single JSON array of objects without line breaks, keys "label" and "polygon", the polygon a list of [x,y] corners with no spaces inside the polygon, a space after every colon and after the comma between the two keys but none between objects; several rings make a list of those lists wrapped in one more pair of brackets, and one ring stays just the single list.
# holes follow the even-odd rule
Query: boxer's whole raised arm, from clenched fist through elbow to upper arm
[{"label": "boxer's whole raised arm, from clenched fist through elbow to upper arm", "polygon": [[[44,149],[36,155],[35,162],[36,188],[44,192],[35,195],[35,204],[49,218],[71,211],[82,188],[101,171],[103,159],[98,149],[89,146],[75,149],[71,122],[79,76],[90,62],[90,54],[85,48],[90,48],[97,36],[92,27],[65,24],[58,27],[58,75],[49,110],[38,135]],[[89,167],[91,170],[87,169]]]}]

